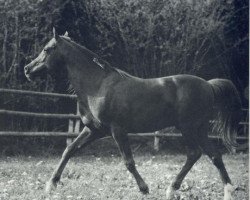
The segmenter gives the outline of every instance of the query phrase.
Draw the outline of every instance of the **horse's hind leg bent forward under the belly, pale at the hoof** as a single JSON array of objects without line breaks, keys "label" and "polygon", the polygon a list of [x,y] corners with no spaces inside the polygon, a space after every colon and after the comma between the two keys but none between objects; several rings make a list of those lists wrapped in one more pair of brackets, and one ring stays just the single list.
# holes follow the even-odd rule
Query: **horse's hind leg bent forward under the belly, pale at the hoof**
[{"label": "horse's hind leg bent forward under the belly, pale at the hoof", "polygon": [[187,160],[179,174],[175,177],[174,181],[167,189],[166,197],[168,200],[173,199],[174,192],[180,188],[183,179],[202,154],[193,136],[190,134],[186,134],[185,132],[183,131],[182,134],[187,148]]}]

